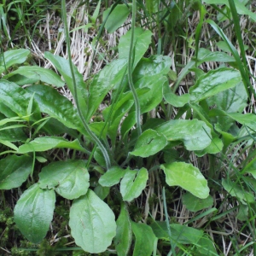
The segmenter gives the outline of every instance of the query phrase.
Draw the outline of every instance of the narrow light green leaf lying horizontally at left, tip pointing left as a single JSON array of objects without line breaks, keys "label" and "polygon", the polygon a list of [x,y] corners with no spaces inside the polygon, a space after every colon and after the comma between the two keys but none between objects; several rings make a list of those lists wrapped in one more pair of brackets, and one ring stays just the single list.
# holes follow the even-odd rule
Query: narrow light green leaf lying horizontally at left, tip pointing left
[{"label": "narrow light green leaf lying horizontally at left, tip pointing left", "polygon": [[32,142],[21,145],[18,153],[42,152],[52,148],[73,148],[85,152],[77,139],[69,142],[62,137],[37,137]]}]

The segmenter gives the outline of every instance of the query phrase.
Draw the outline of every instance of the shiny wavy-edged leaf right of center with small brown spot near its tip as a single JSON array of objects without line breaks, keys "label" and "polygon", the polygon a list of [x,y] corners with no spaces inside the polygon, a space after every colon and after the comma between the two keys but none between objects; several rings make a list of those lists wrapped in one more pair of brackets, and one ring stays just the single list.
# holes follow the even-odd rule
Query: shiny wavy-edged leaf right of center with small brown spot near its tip
[{"label": "shiny wavy-edged leaf right of center with small brown spot near its tip", "polygon": [[212,142],[211,129],[198,119],[170,120],[156,127],[155,131],[165,135],[168,141],[182,141],[188,150],[201,150]]}]

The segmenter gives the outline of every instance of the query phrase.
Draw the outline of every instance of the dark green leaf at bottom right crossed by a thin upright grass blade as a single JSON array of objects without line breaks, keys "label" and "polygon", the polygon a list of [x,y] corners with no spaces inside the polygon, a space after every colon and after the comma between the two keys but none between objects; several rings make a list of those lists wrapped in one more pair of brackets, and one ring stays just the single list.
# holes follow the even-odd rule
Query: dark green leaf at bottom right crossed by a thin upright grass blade
[{"label": "dark green leaf at bottom right crossed by a thin upright grass blade", "polygon": [[[169,235],[165,221],[155,221],[150,225],[155,236],[168,241]],[[203,236],[202,230],[196,230],[181,224],[170,224],[172,241],[181,244],[197,244]]]}]

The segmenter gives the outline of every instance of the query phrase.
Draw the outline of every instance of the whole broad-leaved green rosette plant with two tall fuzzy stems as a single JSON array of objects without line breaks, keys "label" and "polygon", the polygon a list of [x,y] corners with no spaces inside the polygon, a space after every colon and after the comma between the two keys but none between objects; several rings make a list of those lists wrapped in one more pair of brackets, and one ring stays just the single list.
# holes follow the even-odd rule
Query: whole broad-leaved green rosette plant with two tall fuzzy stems
[{"label": "whole broad-leaved green rosette plant with two tall fuzzy stems", "polygon": [[[153,2],[146,1],[144,8],[152,13],[160,9],[160,2],[152,6]],[[0,189],[19,188],[27,181],[28,188],[15,206],[15,223],[33,243],[46,236],[58,194],[73,200],[69,226],[76,244],[85,252],[114,250],[127,255],[132,247],[133,255],[156,255],[157,248],[162,247],[166,254],[218,255],[206,232],[188,224],[210,216],[210,225],[224,214],[212,207],[210,193],[210,189],[221,188],[236,198],[239,218],[249,217],[248,226],[254,230],[253,149],[249,162],[236,166],[238,150],[253,148],[255,141],[255,115],[242,113],[248,96],[253,95],[247,67],[223,30],[212,20],[204,20],[206,10],[198,3],[201,20],[195,34],[195,58],[175,78],[170,70],[172,59],[160,55],[160,48],[157,55],[149,55],[152,32],[136,26],[136,3],[132,1],[131,30],[119,40],[119,58],[91,76],[90,83],[84,82],[71,61],[68,37],[68,61],[44,54],[65,80],[76,108],[55,90],[54,86],[62,87],[64,82],[53,71],[36,66],[10,69],[26,61],[29,50],[9,50],[1,55]],[[116,6],[123,11],[121,26],[131,9],[125,3]],[[236,11],[231,4],[230,10]],[[106,21],[109,32],[118,27],[113,15],[118,13],[111,8],[110,21]],[[160,27],[160,13],[156,20]],[[200,48],[203,23],[218,32],[232,55]],[[67,36],[65,19],[64,24]],[[200,66],[206,61],[218,62],[219,67],[204,73]],[[232,67],[235,61],[237,67]],[[191,71],[195,73],[194,84],[186,94],[177,96],[179,83]],[[170,77],[175,79],[173,88]],[[91,121],[108,93],[108,107],[97,121]],[[228,158],[231,152],[234,154]],[[207,172],[193,165],[191,156],[199,160],[207,157]],[[225,177],[221,180],[222,168]],[[170,223],[166,198],[170,192],[163,189],[166,222],[152,218],[151,223],[140,223],[142,213],[137,208],[133,211],[130,202],[143,194],[152,177],[157,177],[165,189],[186,190],[179,193],[190,212],[206,211],[186,224]],[[41,250],[47,249],[45,243]],[[235,249],[236,253],[242,251]]]}]

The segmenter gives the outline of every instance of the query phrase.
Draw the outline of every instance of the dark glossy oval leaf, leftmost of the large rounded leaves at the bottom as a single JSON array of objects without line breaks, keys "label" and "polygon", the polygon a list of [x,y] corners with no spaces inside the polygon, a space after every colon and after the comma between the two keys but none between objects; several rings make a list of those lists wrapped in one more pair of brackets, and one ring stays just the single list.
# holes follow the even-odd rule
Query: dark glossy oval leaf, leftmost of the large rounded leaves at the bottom
[{"label": "dark glossy oval leaf, leftmost of the large rounded leaves at the bottom", "polygon": [[23,236],[33,243],[44,239],[55,208],[55,192],[33,184],[15,206],[15,223]]}]

